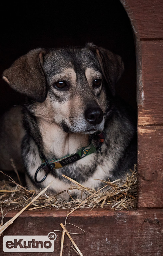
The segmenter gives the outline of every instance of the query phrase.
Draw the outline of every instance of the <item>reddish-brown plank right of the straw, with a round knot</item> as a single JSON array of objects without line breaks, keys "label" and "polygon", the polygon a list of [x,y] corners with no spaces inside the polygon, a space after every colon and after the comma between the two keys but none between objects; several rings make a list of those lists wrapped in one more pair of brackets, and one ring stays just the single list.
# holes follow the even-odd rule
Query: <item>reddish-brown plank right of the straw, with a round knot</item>
[{"label": "reddish-brown plank right of the straw, with a round knot", "polygon": [[163,208],[163,126],[138,127],[138,208]]}]

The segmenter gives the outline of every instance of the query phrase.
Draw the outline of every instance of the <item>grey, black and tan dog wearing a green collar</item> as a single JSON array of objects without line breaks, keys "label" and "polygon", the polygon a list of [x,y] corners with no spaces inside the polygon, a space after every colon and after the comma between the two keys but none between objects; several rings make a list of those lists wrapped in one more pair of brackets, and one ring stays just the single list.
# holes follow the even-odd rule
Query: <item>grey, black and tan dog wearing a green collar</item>
[{"label": "grey, black and tan dog wearing a green collar", "polygon": [[115,96],[123,70],[119,55],[87,43],[31,50],[4,71],[3,79],[27,96],[21,147],[30,189],[54,181],[51,193],[67,190],[72,183],[62,174],[96,189],[133,169],[136,124]]}]

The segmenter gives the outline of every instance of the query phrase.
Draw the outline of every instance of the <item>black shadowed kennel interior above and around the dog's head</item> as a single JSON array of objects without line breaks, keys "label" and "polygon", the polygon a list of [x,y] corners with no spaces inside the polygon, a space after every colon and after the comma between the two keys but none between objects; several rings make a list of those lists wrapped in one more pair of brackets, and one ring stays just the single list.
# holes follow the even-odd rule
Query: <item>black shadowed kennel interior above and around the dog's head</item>
[{"label": "black shadowed kennel interior above and around the dog's head", "polygon": [[[137,111],[135,45],[131,24],[119,0],[48,1],[9,7],[8,22],[1,32],[1,70],[29,50],[69,45],[84,46],[92,42],[119,54],[124,73],[116,93]],[[3,50],[2,50],[3,49]],[[1,80],[0,112],[24,102],[24,96]]]}]

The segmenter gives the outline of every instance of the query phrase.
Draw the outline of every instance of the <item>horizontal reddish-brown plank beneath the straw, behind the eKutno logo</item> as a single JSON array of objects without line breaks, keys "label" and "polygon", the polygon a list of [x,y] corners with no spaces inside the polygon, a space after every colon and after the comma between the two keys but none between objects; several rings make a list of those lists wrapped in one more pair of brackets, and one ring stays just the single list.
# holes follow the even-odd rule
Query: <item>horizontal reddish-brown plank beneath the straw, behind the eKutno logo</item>
[{"label": "horizontal reddish-brown plank beneath the straw, behind the eKutno logo", "polygon": [[[15,211],[16,213],[17,211]],[[67,210],[25,211],[4,231],[3,235],[47,235],[53,230],[61,230],[60,223],[65,222]],[[14,214],[15,214],[14,213]],[[13,216],[5,216],[4,222]],[[71,234],[84,256],[162,256],[163,210],[113,211],[104,209],[82,209],[75,211],[67,222],[77,225],[85,235]],[[75,226],[67,225],[69,232],[80,233]],[[56,232],[54,253],[60,255],[61,232]],[[65,235],[64,245],[70,242]],[[0,255],[14,256],[15,253],[3,253],[3,237],[0,238]],[[68,255],[65,249],[63,255]],[[26,253],[19,253],[26,256]],[[29,253],[30,256],[42,255]],[[77,255],[72,252],[72,256]]]}]

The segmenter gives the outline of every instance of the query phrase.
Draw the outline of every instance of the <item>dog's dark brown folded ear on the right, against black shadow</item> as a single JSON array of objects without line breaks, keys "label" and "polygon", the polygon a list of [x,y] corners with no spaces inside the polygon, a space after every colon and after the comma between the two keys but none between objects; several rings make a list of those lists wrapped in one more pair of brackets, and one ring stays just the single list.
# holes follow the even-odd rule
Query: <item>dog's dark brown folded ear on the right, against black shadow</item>
[{"label": "dog's dark brown folded ear on the right, against black shadow", "polygon": [[112,95],[115,96],[115,84],[118,82],[124,70],[121,57],[102,47],[97,47],[92,43],[87,43],[86,47],[96,56],[110,91]]}]

